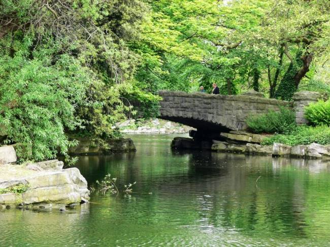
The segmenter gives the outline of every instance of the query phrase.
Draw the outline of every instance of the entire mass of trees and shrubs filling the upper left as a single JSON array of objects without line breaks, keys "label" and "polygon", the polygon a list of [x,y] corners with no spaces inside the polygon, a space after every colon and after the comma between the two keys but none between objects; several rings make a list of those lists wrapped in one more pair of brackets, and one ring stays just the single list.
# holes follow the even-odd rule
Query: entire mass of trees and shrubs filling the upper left
[{"label": "entire mass of trees and shrubs filling the upper left", "polygon": [[[0,4],[0,125],[22,160],[67,155],[80,132],[106,144],[125,118],[142,1],[6,0]],[[31,150],[26,152],[24,150]],[[19,150],[18,150],[19,151]]]}]

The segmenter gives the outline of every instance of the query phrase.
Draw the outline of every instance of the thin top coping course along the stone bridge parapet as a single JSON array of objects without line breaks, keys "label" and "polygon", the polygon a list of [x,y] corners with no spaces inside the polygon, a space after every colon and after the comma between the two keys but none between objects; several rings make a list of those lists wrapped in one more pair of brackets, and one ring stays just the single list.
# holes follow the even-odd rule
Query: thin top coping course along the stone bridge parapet
[{"label": "thin top coping course along the stone bridge parapet", "polygon": [[170,101],[166,97],[180,97],[180,98],[204,98],[204,99],[214,99],[214,100],[226,100],[226,101],[240,101],[240,102],[250,102],[250,103],[261,103],[277,106],[293,106],[293,102],[282,101],[276,99],[267,99],[256,96],[246,96],[246,95],[212,95],[206,94],[205,92],[183,92],[183,91],[169,91],[169,90],[160,90],[158,95],[165,97],[163,101]]}]

